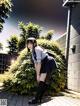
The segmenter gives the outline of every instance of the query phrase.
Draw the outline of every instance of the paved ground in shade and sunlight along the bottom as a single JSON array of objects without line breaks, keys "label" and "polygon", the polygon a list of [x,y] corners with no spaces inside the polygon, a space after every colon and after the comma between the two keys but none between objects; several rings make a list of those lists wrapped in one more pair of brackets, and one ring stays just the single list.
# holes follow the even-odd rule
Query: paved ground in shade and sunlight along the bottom
[{"label": "paved ground in shade and sunlight along the bottom", "polygon": [[75,99],[66,96],[56,96],[48,99],[45,98],[44,103],[40,105],[28,105],[30,97],[20,96],[7,92],[0,92],[0,99],[7,99],[7,106],[80,106],[80,99]]}]

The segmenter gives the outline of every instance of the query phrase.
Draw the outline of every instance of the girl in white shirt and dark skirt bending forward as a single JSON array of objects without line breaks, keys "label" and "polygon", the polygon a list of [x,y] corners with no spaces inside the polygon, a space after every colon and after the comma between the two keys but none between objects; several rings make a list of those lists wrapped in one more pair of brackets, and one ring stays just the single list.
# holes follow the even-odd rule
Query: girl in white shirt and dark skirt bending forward
[{"label": "girl in white shirt and dark skirt bending forward", "polygon": [[37,41],[33,37],[27,39],[27,48],[32,52],[38,82],[35,98],[29,101],[29,104],[41,103],[42,96],[47,89],[46,79],[56,67],[56,62],[43,48],[37,45]]}]

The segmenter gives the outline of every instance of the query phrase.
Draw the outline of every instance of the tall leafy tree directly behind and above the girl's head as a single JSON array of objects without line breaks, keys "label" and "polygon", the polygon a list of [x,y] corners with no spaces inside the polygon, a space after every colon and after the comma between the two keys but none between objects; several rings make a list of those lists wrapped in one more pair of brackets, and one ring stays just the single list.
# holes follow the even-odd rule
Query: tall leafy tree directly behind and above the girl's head
[{"label": "tall leafy tree directly behind and above the girl's head", "polygon": [[23,22],[19,22],[19,28],[21,30],[20,40],[18,42],[19,51],[25,48],[26,40],[28,37],[39,38],[41,29],[39,25],[29,22],[27,25]]}]

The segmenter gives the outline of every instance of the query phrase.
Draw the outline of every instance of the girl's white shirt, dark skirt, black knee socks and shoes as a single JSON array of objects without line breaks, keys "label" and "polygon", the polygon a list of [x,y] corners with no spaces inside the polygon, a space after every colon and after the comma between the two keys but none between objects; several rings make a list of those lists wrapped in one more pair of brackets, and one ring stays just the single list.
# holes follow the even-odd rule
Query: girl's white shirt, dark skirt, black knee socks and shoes
[{"label": "girl's white shirt, dark skirt, black knee socks and shoes", "polygon": [[[32,51],[32,59],[34,61],[34,64],[41,63],[40,73],[47,73],[47,77],[49,77],[52,70],[55,69],[54,58],[49,56],[47,51],[45,49],[41,48],[40,46],[36,46],[34,49],[35,49],[35,52]],[[45,82],[40,81],[38,83],[35,98],[33,100],[29,101],[29,104],[36,104],[38,102],[41,103],[42,97],[49,86],[47,81],[48,80],[45,80]]]}]

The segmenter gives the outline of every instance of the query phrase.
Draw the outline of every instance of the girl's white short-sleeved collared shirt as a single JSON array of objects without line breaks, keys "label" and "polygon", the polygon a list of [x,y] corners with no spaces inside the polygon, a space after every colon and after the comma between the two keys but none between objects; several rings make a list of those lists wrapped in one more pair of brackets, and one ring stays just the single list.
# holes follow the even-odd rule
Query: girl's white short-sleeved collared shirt
[{"label": "girl's white short-sleeved collared shirt", "polygon": [[46,50],[41,48],[40,46],[35,47],[36,59],[34,58],[34,54],[32,52],[32,59],[34,63],[41,63],[41,61],[48,55]]}]

